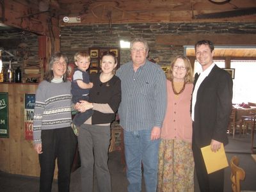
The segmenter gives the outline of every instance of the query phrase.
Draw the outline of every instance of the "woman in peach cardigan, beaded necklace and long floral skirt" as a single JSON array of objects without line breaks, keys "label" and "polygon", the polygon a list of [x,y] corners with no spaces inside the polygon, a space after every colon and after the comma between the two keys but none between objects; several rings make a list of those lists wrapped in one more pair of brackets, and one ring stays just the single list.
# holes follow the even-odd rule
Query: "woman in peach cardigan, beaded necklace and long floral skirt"
[{"label": "woman in peach cardigan, beaded necklace and long floral skirt", "polygon": [[167,110],[161,129],[157,191],[194,191],[194,160],[190,115],[193,69],[185,56],[170,65]]}]

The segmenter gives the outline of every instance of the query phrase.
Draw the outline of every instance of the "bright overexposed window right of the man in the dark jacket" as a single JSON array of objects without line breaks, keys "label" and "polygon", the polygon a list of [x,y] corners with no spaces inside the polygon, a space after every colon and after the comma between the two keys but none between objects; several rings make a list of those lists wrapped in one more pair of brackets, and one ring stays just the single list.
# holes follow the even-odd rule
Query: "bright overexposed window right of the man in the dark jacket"
[{"label": "bright overexposed window right of the man in the dark jacket", "polygon": [[231,60],[230,68],[235,68],[232,102],[256,102],[256,60]]}]

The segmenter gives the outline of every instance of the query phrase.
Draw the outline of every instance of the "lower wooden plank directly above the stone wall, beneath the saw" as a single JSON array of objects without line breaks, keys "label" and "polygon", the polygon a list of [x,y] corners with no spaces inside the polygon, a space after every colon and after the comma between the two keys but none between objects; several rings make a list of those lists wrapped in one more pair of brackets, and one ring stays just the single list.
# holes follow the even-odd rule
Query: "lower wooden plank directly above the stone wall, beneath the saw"
[{"label": "lower wooden plank directly above the stone wall, beneath the saw", "polygon": [[[91,12],[92,10],[90,10]],[[84,13],[82,15],[73,15],[73,17],[81,17],[81,22],[64,23],[63,17],[69,15],[61,15],[60,26],[68,25],[86,25],[86,24],[108,24],[108,10],[97,10],[93,13]],[[198,12],[195,12],[197,14]],[[243,17],[230,17],[223,19],[193,19],[190,11],[173,11],[173,12],[115,12],[111,11],[111,24],[122,23],[150,23],[150,22],[255,22],[256,15],[247,15]]]}]

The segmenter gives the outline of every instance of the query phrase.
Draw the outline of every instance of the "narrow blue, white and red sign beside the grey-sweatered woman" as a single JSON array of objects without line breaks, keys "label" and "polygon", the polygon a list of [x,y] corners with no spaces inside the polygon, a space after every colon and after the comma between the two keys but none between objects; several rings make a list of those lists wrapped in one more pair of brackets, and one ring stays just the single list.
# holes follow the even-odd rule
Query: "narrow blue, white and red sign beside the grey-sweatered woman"
[{"label": "narrow blue, white and red sign beside the grey-sweatered woman", "polygon": [[25,139],[33,140],[33,116],[35,108],[35,97],[33,93],[25,93],[24,127]]}]

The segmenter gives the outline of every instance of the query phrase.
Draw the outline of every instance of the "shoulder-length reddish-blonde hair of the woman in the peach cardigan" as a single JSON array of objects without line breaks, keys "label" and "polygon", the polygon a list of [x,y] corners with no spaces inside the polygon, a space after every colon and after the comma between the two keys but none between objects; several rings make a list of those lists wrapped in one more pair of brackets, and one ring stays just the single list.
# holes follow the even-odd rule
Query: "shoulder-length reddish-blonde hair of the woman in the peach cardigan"
[{"label": "shoulder-length reddish-blonde hair of the woman in the peach cardigan", "polygon": [[186,56],[183,55],[179,55],[176,56],[174,58],[174,60],[172,61],[170,68],[168,70],[168,74],[167,74],[167,79],[170,81],[173,81],[173,65],[175,64],[175,62],[177,61],[177,59],[182,59],[185,63],[185,67],[186,67],[186,76],[184,77],[184,81],[185,83],[193,83],[194,81],[194,77],[193,77],[193,68],[191,67],[191,63],[189,61],[189,59]]}]

